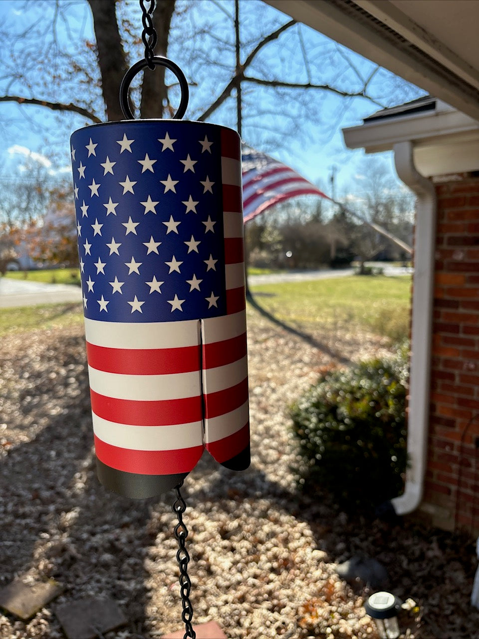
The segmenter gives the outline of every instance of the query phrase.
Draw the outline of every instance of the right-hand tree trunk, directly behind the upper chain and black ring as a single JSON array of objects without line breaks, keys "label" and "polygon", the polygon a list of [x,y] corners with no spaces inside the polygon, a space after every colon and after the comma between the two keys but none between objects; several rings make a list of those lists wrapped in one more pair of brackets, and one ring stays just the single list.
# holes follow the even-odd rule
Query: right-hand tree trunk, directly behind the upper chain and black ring
[{"label": "right-hand tree trunk, directly behind the upper chain and black ring", "polygon": [[[102,0],[100,0],[101,2]],[[171,17],[174,13],[175,0],[157,0],[153,13],[153,24],[158,35],[155,48],[156,56],[166,56]],[[163,107],[168,105],[168,89],[165,86],[165,67],[156,66],[155,71],[144,70],[141,89],[140,112],[142,118],[162,118]],[[174,111],[167,112],[171,118]]]}]

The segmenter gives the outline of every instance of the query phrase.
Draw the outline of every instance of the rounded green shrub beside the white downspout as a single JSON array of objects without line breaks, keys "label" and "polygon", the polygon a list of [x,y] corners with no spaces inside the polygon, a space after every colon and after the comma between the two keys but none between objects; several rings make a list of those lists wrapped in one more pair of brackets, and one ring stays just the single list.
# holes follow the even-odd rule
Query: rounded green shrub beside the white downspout
[{"label": "rounded green shrub beside the white downspout", "polygon": [[330,371],[291,407],[296,472],[308,493],[371,507],[402,491],[407,352]]}]

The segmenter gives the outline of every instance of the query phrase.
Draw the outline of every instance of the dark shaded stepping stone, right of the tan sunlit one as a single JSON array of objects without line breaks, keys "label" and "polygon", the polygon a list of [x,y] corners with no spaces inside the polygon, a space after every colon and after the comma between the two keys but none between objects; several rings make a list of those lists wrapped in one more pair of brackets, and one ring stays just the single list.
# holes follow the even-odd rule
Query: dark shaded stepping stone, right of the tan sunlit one
[{"label": "dark shaded stepping stone, right of the tan sunlit one", "polygon": [[57,606],[55,614],[68,639],[95,639],[127,621],[118,604],[106,597],[70,601]]}]

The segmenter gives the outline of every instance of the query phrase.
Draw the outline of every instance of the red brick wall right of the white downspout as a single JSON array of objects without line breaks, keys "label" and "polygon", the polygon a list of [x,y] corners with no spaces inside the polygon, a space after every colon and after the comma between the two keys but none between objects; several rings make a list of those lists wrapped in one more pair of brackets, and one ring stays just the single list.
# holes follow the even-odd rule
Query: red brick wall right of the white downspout
[{"label": "red brick wall right of the white downspout", "polygon": [[441,527],[477,534],[479,175],[455,176],[436,184],[436,192],[430,428],[422,510],[429,510]]}]

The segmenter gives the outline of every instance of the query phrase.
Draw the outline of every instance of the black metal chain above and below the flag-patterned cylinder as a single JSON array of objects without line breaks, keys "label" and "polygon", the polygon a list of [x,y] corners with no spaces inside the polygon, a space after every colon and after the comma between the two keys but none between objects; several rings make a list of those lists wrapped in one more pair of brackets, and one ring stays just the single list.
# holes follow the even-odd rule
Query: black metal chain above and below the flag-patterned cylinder
[{"label": "black metal chain above and below the flag-patterned cylinder", "polygon": [[[149,7],[146,8],[145,1],[140,0],[140,6],[142,10],[142,24],[143,32],[141,39],[145,45],[145,60],[148,68],[155,69],[155,47],[158,42],[158,36],[156,35],[155,26],[153,26],[153,12],[155,11],[155,0],[150,0]],[[120,95],[122,91],[120,89]],[[178,116],[177,117],[181,117]],[[191,580],[188,575],[188,563],[190,562],[190,555],[185,547],[186,537],[188,537],[188,528],[186,528],[183,521],[183,512],[186,510],[186,503],[183,497],[181,497],[180,488],[183,486],[183,481],[179,482],[174,488],[176,491],[176,500],[172,504],[172,511],[178,517],[178,523],[174,527],[174,536],[178,541],[178,551],[176,553],[176,560],[179,566],[179,587],[181,592],[181,604],[183,606],[183,612],[181,613],[181,620],[185,624],[185,635],[183,639],[196,639],[196,633],[192,626],[193,619],[193,606],[190,601],[190,589]]]}]

